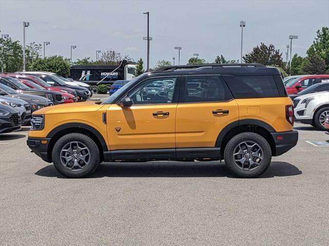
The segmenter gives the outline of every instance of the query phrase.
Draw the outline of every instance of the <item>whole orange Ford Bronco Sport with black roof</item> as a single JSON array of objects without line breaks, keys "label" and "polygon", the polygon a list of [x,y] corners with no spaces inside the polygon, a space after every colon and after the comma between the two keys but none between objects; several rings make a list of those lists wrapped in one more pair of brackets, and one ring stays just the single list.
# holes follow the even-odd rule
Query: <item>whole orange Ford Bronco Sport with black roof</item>
[{"label": "whole orange Ford Bronco Sport with black roof", "polygon": [[[150,90],[161,83],[163,95]],[[31,125],[32,152],[70,178],[103,161],[222,159],[236,176],[258,177],[298,140],[280,72],[260,64],[161,67],[102,103],[42,108]]]}]

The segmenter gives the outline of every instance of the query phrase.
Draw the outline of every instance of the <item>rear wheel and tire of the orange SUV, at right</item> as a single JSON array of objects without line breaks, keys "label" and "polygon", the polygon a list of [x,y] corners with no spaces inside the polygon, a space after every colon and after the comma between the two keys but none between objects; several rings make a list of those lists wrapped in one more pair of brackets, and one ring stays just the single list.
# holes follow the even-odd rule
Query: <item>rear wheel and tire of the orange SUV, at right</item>
[{"label": "rear wheel and tire of the orange SUV, at right", "polygon": [[[246,147],[247,145],[248,147]],[[244,146],[246,149],[244,149]],[[248,152],[245,153],[247,149],[249,150],[249,154]],[[239,154],[240,152],[243,154]],[[250,155],[250,153],[252,154]],[[262,159],[260,156],[262,156]],[[248,157],[250,158],[247,160]],[[227,143],[224,151],[224,160],[227,168],[231,173],[240,178],[256,178],[262,175],[271,163],[271,158],[272,152],[268,142],[262,136],[255,133],[241,133],[234,136]],[[249,163],[252,165],[249,165]]]}]

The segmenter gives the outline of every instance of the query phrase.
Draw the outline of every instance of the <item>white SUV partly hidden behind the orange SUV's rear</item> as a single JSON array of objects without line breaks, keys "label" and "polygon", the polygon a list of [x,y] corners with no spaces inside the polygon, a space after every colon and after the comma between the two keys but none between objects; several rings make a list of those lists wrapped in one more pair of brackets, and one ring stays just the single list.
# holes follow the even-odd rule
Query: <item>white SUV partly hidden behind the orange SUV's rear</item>
[{"label": "white SUV partly hidden behind the orange SUV's rear", "polygon": [[310,93],[294,99],[295,118],[325,130],[323,124],[329,115],[329,91]]}]

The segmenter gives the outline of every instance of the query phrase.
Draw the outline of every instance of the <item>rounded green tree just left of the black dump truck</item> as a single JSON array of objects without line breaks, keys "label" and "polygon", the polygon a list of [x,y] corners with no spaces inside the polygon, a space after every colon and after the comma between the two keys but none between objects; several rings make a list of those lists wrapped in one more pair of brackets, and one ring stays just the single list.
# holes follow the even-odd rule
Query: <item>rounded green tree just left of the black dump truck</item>
[{"label": "rounded green tree just left of the black dump truck", "polygon": [[54,72],[67,77],[70,73],[70,62],[69,59],[65,59],[63,56],[53,55],[45,59],[36,59],[29,69],[32,71]]}]

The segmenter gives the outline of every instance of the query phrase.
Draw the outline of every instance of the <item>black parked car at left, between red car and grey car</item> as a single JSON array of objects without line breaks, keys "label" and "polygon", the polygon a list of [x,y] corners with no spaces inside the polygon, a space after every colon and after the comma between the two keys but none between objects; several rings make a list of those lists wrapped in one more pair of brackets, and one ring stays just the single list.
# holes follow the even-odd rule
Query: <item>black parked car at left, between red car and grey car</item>
[{"label": "black parked car at left, between red car and grey car", "polygon": [[16,80],[10,76],[0,75],[0,84],[6,85],[19,93],[33,94],[36,96],[41,96],[51,100],[54,104],[63,103],[62,95],[60,92],[51,90],[36,90],[24,85],[19,80]]}]

